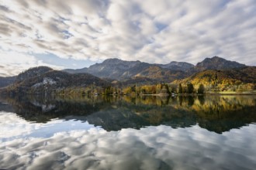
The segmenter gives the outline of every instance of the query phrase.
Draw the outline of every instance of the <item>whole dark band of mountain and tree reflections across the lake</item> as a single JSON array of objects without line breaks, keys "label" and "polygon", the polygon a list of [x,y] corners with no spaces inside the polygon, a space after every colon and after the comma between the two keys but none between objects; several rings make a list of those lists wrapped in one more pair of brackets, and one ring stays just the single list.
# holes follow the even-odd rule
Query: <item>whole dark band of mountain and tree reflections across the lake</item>
[{"label": "whole dark band of mountain and tree reflections across the lake", "polygon": [[185,128],[195,124],[222,133],[256,122],[254,96],[95,97],[67,99],[9,99],[15,112],[28,121],[77,119],[107,131],[165,124]]}]

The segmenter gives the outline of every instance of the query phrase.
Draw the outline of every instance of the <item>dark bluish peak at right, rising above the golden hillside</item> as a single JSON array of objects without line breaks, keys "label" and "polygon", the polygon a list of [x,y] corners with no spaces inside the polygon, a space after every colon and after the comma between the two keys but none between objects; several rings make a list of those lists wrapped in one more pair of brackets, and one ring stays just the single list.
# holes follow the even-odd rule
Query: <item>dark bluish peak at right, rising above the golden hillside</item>
[{"label": "dark bluish peak at right, rising above the golden hillside", "polygon": [[220,58],[219,56],[213,56],[213,58],[206,58],[202,62],[197,63],[195,70],[197,72],[202,70],[228,70],[234,68],[244,67],[246,65]]}]

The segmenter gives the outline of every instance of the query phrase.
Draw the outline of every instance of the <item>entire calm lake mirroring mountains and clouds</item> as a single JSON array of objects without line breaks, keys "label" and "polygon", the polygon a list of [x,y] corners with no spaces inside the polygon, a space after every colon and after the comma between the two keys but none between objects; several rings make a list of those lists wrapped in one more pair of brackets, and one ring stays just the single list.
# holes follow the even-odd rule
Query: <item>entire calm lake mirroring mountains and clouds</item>
[{"label": "entire calm lake mirroring mountains and clouds", "polygon": [[255,169],[256,96],[0,99],[1,169]]}]

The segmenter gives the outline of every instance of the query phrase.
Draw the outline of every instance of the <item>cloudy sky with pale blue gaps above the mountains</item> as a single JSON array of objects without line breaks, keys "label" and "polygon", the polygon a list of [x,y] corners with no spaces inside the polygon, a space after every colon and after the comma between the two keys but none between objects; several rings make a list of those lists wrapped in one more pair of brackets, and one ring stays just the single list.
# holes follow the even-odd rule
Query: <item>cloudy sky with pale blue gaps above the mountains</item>
[{"label": "cloudy sky with pale blue gaps above the mountains", "polygon": [[256,65],[255,0],[0,0],[0,76],[104,59]]}]

